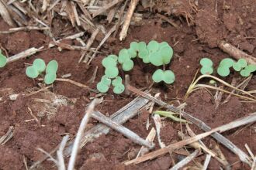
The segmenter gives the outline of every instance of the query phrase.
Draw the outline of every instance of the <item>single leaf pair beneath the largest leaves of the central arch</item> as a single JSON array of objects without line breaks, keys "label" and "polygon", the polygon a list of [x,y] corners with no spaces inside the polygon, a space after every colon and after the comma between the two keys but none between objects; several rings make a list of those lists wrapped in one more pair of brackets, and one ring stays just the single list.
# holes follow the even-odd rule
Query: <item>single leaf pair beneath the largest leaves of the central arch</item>
[{"label": "single leaf pair beneath the largest leaves of the central arch", "polygon": [[158,69],[154,72],[152,79],[156,83],[164,81],[164,83],[170,84],[175,81],[175,74],[171,70],[163,71],[161,69]]}]

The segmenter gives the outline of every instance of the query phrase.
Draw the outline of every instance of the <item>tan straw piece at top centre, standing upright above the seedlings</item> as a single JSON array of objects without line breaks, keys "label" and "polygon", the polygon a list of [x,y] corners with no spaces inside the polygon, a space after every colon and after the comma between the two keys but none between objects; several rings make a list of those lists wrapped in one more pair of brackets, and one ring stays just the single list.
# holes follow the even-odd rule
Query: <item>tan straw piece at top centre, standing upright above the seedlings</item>
[{"label": "tan straw piece at top centre, standing upright above the seedlings", "polygon": [[126,13],[126,19],[125,19],[125,22],[123,23],[123,28],[119,34],[120,41],[122,41],[123,39],[126,38],[127,31],[130,26],[130,20],[132,19],[133,12],[134,12],[138,2],[139,2],[139,0],[131,0],[131,2],[130,2],[128,12]]}]

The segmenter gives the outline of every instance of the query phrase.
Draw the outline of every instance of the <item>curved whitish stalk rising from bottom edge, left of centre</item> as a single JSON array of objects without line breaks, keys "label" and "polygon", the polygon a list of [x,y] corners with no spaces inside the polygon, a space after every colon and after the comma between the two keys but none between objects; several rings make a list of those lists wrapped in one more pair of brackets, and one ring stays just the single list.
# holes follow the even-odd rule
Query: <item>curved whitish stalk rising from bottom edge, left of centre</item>
[{"label": "curved whitish stalk rising from bottom edge, left of centre", "polygon": [[78,133],[76,135],[76,138],[74,139],[74,145],[71,152],[71,158],[69,159],[69,162],[68,162],[67,170],[74,169],[74,163],[78,155],[78,150],[80,148],[81,138],[84,134],[85,127],[88,124],[88,121],[97,103],[98,103],[98,99],[92,100],[92,103],[88,106],[88,109],[85,112],[85,117],[83,117],[83,119],[81,120],[81,124],[78,128]]}]

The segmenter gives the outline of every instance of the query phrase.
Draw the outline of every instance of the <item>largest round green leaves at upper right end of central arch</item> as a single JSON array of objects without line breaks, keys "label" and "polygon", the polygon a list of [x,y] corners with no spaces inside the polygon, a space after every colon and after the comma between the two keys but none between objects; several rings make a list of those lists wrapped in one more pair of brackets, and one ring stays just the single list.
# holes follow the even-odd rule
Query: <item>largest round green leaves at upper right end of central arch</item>
[{"label": "largest round green leaves at upper right end of central arch", "polygon": [[149,60],[154,66],[161,66],[170,63],[173,56],[173,49],[167,42],[158,43],[150,41],[147,45]]}]

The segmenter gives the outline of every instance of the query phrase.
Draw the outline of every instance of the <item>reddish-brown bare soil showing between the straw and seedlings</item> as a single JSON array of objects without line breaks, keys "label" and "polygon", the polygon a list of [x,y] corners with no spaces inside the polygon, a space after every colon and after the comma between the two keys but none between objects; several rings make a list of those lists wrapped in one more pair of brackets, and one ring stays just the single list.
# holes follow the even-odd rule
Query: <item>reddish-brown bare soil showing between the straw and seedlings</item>
[{"label": "reddish-brown bare soil showing between the straw and seedlings", "polygon": [[[256,19],[254,17],[256,15],[256,4],[254,0],[199,1],[196,10],[189,6],[187,3],[189,1],[180,1],[179,3],[181,4],[172,6],[171,11],[168,11],[169,9],[166,8],[166,5],[170,5],[171,2],[175,1],[158,1],[154,12],[173,14],[173,20],[180,27],[179,29],[159,19],[157,15],[144,11],[143,21],[137,26],[130,27],[126,40],[123,42],[119,42],[118,39],[109,40],[102,48],[104,53],[93,59],[90,66],[85,63],[78,64],[78,59],[81,56],[78,51],[64,49],[59,52],[57,48],[53,48],[43,50],[0,69],[0,97],[3,98],[0,100],[0,136],[4,135],[10,126],[15,127],[12,139],[5,145],[0,145],[0,169],[25,169],[23,159],[30,166],[42,158],[43,153],[38,151],[37,148],[43,148],[44,151],[50,152],[61,142],[64,134],[68,133],[73,137],[78,131],[78,126],[84,116],[85,107],[89,103],[90,97],[95,97],[96,95],[94,92],[76,87],[71,83],[55,82],[50,91],[57,95],[63,95],[74,102],[55,107],[56,112],[51,117],[46,116],[49,114],[43,114],[42,116],[36,110],[39,105],[35,104],[39,104],[39,102],[35,102],[35,99],[42,99],[45,92],[36,93],[30,97],[19,96],[17,100],[10,100],[9,94],[29,93],[40,89],[38,86],[40,81],[33,81],[27,78],[25,74],[27,63],[33,63],[35,58],[42,58],[46,63],[51,59],[56,59],[60,66],[57,72],[58,77],[71,73],[71,77],[69,77],[71,80],[95,88],[96,83],[99,82],[104,73],[101,61],[107,54],[117,54],[120,49],[128,48],[132,41],[149,42],[151,39],[159,42],[166,41],[173,47],[175,52],[171,64],[168,65],[168,69],[175,73],[175,83],[168,86],[164,84],[154,85],[153,91],[161,91],[162,100],[186,102],[185,111],[204,121],[211,128],[227,124],[237,118],[253,113],[256,110],[256,104],[244,102],[237,97],[230,97],[226,104],[220,104],[219,107],[215,108],[216,104],[213,95],[206,90],[197,90],[187,100],[183,99],[196,71],[199,69],[199,59],[209,57],[213,59],[214,66],[217,66],[221,59],[229,57],[227,53],[223,53],[217,48],[220,40],[226,40],[244,50],[244,52],[256,56],[256,50],[254,49],[256,46]],[[139,5],[138,8],[142,8],[142,6]],[[185,19],[184,13],[182,13],[183,10],[187,12],[187,15],[191,16],[189,20]],[[56,22],[53,24],[54,36],[58,38],[61,33],[56,28],[63,26],[64,23],[54,22]],[[188,22],[190,26],[188,26]],[[1,19],[0,30],[6,29],[9,29],[9,26]],[[29,47],[47,46],[49,39],[43,32],[38,31],[0,34],[1,48],[7,50],[8,56],[12,56]],[[75,44],[77,42],[66,43]],[[99,66],[95,83],[88,83],[88,80],[92,78],[95,66]],[[137,60],[133,70],[129,73],[131,85],[137,88],[150,86],[152,80],[147,82],[145,77],[150,77],[154,70],[156,70],[156,67],[144,66],[140,60]],[[121,76],[124,76],[123,73],[121,73]],[[230,76],[223,80],[231,83],[234,76],[237,76],[237,74],[231,73]],[[255,87],[256,77],[254,75],[246,90],[255,90]],[[214,94],[214,91],[212,93]],[[223,95],[224,99],[226,97],[226,95]],[[113,114],[133,98],[133,96],[124,94],[116,95],[110,90],[104,97],[103,103],[97,109],[106,115]],[[36,121],[31,121],[33,117],[29,114],[29,108],[32,109],[36,117],[40,118],[40,124]],[[140,137],[147,138],[149,130],[154,127],[154,122],[150,118],[150,126],[147,131],[146,123],[148,117],[151,117],[150,114],[147,111],[142,111],[137,117],[126,122],[124,126],[139,134]],[[161,129],[161,140],[165,145],[179,141],[180,138],[178,138],[177,134],[178,131],[181,131],[180,124],[168,119],[165,119],[163,123],[164,128]],[[95,124],[97,124],[97,121],[90,121],[88,128]],[[195,126],[191,126],[195,134],[202,132]],[[253,153],[256,153],[255,126],[256,124],[251,124],[223,134],[246,153],[245,144],[251,148]],[[211,138],[206,138],[203,141],[208,146],[212,145],[213,147],[213,144],[216,145],[216,142],[213,142]],[[158,144],[157,140],[154,142]],[[157,148],[159,148],[158,145]],[[76,169],[147,168],[164,170],[174,165],[174,162],[184,158],[184,156],[181,157],[177,154],[173,154],[171,157],[164,155],[139,165],[124,166],[122,162],[135,158],[139,149],[140,145],[134,144],[116,131],[111,131],[109,134],[100,136],[96,141],[88,143],[82,148],[78,155]],[[227,148],[223,148],[220,145],[220,149],[223,151],[227,161],[232,165],[232,169],[249,169],[247,165],[239,162],[237,155],[231,153]],[[204,156],[196,160],[203,165]],[[209,169],[219,169],[219,167],[220,163],[212,158]],[[45,161],[38,169],[57,168],[52,162]]]}]

